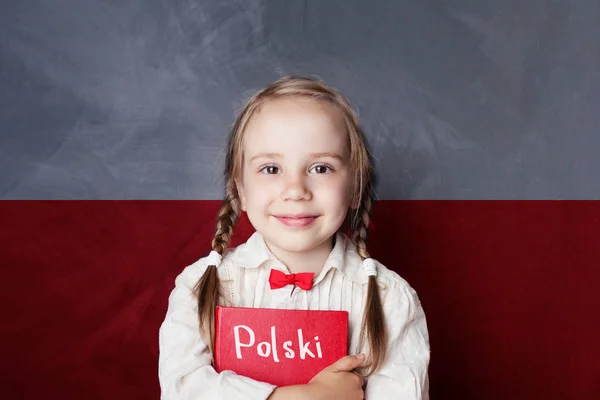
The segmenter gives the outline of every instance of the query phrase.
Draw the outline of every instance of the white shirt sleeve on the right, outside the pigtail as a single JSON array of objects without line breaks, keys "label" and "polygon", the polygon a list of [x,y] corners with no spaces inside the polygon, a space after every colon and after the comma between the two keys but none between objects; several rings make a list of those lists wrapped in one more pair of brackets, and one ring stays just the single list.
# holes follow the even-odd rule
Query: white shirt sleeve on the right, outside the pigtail
[{"label": "white shirt sleeve on the right, outside the pigtail", "polygon": [[372,375],[365,399],[429,400],[429,334],[416,292],[405,286],[384,302],[389,329],[388,353]]}]

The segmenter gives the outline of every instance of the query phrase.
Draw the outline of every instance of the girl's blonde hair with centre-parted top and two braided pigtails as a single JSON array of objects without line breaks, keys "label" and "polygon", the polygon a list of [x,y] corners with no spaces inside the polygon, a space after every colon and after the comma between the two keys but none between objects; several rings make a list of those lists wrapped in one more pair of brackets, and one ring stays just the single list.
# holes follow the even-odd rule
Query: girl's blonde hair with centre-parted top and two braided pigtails
[{"label": "girl's blonde hair with centre-parted top and two braided pigtails", "polygon": [[[212,249],[224,255],[231,241],[233,228],[241,212],[241,203],[235,180],[241,178],[243,165],[243,135],[248,122],[260,106],[269,100],[305,97],[324,101],[336,106],[343,114],[350,145],[350,165],[354,175],[352,204],[347,222],[350,225],[351,240],[358,254],[364,260],[367,252],[367,234],[373,203],[373,168],[364,136],[359,128],[358,118],[349,102],[324,82],[299,76],[281,78],[252,96],[240,112],[227,145],[225,165],[225,197],[217,217],[217,225],[212,240]],[[211,356],[214,355],[215,307],[220,298],[220,283],[217,267],[209,265],[198,281],[195,292],[198,296],[198,318],[200,333],[207,343]],[[367,299],[363,314],[359,349],[369,344],[369,354],[365,363],[365,374],[372,375],[383,364],[387,348],[387,331],[377,278],[369,277]]]}]

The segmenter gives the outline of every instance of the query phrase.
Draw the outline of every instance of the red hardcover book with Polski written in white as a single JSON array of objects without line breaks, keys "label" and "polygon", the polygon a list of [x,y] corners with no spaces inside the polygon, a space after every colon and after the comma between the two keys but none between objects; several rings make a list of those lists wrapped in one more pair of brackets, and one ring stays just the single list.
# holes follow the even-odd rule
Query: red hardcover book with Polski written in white
[{"label": "red hardcover book with Polski written in white", "polygon": [[347,354],[348,312],[217,307],[215,369],[277,386],[308,383]]}]

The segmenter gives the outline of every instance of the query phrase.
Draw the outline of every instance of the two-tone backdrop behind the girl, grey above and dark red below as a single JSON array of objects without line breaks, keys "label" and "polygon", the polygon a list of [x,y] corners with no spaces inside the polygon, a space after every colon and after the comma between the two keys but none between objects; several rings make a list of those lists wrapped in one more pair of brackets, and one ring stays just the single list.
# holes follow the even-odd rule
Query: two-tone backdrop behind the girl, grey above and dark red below
[{"label": "two-tone backdrop behind the girl, grey above and dark red below", "polygon": [[576,0],[3,1],[3,392],[159,396],[235,113],[308,73],[359,111],[370,250],[421,297],[432,398],[595,398],[599,53]]}]

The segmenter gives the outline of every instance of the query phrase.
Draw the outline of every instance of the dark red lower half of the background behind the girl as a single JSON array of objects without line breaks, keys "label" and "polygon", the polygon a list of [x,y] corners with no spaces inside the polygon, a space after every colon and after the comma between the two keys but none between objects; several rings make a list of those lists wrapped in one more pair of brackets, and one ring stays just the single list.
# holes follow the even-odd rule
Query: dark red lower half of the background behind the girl
[{"label": "dark red lower half of the background behind the girl", "polygon": [[[3,392],[158,398],[167,297],[218,207],[0,202]],[[432,398],[600,392],[599,201],[379,201],[373,220],[371,253],[428,316]],[[250,232],[242,219],[235,244]]]}]

